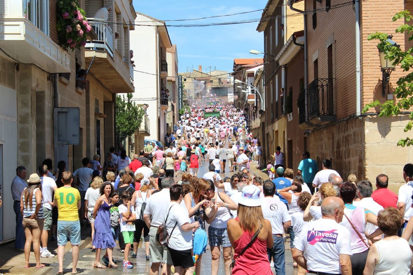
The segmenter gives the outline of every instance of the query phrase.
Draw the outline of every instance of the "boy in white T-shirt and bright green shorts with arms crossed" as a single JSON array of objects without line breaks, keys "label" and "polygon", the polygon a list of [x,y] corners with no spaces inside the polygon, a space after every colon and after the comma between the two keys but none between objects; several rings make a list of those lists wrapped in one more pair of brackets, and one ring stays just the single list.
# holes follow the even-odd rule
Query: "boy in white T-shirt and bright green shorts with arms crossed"
[{"label": "boy in white T-shirt and bright green shorts with arms crossed", "polygon": [[134,207],[131,206],[132,194],[128,191],[123,191],[121,194],[121,199],[123,204],[119,205],[119,215],[121,216],[121,233],[123,240],[125,241],[125,252],[123,253],[123,263],[124,268],[133,268],[131,262],[128,260],[129,250],[131,249],[131,244],[133,243],[133,235],[135,233],[135,224],[133,221],[136,220]]}]

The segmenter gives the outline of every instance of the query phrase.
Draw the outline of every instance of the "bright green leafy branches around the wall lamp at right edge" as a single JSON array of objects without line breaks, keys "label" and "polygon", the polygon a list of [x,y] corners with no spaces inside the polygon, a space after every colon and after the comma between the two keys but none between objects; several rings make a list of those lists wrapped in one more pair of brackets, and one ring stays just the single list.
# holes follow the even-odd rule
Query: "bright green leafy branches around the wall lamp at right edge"
[{"label": "bright green leafy branches around the wall lamp at right edge", "polygon": [[[396,13],[392,20],[396,21],[398,19],[403,19],[410,21],[413,17],[410,15],[408,10],[404,10]],[[403,24],[396,29],[396,33],[407,33],[409,36],[408,40],[413,40],[413,25]],[[413,68],[413,47],[408,49],[406,52],[402,51],[399,47],[392,46],[387,40],[386,33],[373,33],[368,36],[368,40],[378,39],[380,43],[377,48],[383,50],[386,54],[387,60],[394,60],[393,65],[400,66],[404,72],[408,72]],[[368,112],[370,108],[380,107],[379,117],[400,115],[405,110],[411,109],[413,106],[413,72],[406,73],[397,80],[397,87],[393,92],[396,100],[387,100],[384,103],[375,100],[363,108],[363,113]],[[413,119],[413,112],[409,114],[409,118]],[[404,132],[408,132],[412,129],[413,123],[409,121],[404,128]],[[398,146],[410,146],[413,144],[413,139],[407,137],[406,139],[400,139],[397,143]]]}]

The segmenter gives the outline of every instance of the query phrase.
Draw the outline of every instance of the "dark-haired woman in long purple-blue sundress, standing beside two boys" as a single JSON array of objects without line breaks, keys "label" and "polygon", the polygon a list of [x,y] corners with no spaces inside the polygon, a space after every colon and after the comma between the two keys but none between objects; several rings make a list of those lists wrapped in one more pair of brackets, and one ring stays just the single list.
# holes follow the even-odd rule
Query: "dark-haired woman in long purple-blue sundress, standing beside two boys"
[{"label": "dark-haired woman in long purple-blue sundress, standing beside two boys", "polygon": [[95,218],[95,234],[93,236],[93,246],[96,247],[96,258],[93,266],[95,268],[106,268],[106,266],[100,263],[100,251],[107,249],[107,255],[109,259],[109,268],[118,267],[112,260],[112,251],[116,246],[113,240],[112,232],[110,231],[110,212],[109,209],[112,204],[109,199],[109,195],[113,192],[114,188],[110,182],[103,183],[100,186],[101,196],[97,199],[95,209],[93,209],[93,218]]}]

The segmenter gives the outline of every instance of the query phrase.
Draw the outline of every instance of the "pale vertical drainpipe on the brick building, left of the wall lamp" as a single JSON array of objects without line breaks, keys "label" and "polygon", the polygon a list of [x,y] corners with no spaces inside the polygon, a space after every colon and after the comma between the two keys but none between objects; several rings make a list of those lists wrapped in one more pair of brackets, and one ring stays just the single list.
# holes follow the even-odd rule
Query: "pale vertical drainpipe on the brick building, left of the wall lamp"
[{"label": "pale vertical drainpipe on the brick building, left of the wall lamp", "polygon": [[360,0],[355,0],[356,11],[356,115],[361,115],[361,66],[360,66]]}]

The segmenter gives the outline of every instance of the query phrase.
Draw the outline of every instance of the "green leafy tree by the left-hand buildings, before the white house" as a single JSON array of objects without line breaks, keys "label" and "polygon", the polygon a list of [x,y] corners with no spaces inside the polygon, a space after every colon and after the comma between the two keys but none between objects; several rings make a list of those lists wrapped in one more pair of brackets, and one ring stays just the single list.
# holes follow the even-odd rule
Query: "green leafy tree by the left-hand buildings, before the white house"
[{"label": "green leafy tree by the left-hand buildings, before the white house", "polygon": [[116,133],[123,136],[132,136],[140,127],[145,110],[136,105],[132,94],[116,95]]}]

